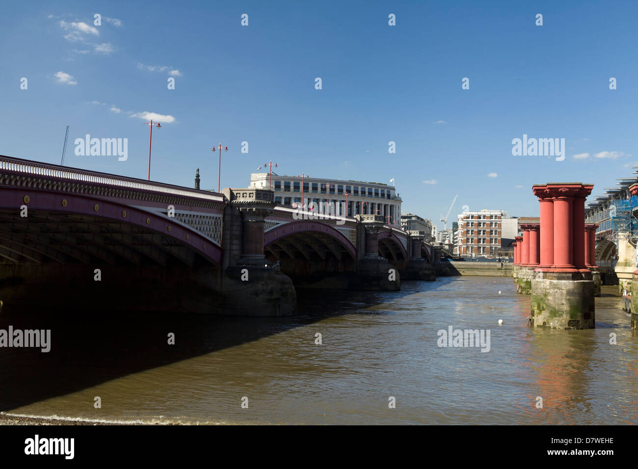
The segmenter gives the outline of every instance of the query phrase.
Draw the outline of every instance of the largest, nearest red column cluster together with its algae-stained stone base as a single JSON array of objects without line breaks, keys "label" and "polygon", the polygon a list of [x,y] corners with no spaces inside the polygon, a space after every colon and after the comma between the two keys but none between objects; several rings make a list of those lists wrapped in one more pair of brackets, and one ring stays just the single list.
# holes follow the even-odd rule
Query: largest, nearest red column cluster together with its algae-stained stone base
[{"label": "largest, nearest red column cluster together with its algae-stained stone base", "polygon": [[592,188],[593,184],[569,182],[533,186],[542,201],[540,264],[531,281],[536,327],[595,327],[595,284],[584,265],[584,202]]}]

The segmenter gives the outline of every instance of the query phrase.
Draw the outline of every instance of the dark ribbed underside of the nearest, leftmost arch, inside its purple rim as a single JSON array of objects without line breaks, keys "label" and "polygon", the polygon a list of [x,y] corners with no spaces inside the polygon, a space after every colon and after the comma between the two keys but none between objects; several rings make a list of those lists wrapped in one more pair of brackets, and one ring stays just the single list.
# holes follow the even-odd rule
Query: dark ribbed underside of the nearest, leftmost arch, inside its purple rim
[{"label": "dark ribbed underside of the nearest, leftmost arch, inside its purple rim", "polygon": [[189,246],[148,228],[84,214],[0,210],[0,264],[195,265]]}]

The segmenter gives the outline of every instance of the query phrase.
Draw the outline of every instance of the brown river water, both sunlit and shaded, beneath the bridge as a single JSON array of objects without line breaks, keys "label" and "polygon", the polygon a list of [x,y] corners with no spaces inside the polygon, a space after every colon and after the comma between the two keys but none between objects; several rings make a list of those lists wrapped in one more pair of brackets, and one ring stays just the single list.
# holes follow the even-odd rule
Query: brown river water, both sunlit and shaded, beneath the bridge
[{"label": "brown river water, both sunlit and shaded, beneath the bridge", "polygon": [[[402,284],[299,292],[293,318],[4,311],[1,328],[52,329],[52,350],[0,348],[0,410],[109,421],[636,422],[638,338],[618,297],[597,299],[597,329],[556,331],[526,325],[530,299],[510,278]],[[439,348],[449,326],[490,329],[490,352]]]}]

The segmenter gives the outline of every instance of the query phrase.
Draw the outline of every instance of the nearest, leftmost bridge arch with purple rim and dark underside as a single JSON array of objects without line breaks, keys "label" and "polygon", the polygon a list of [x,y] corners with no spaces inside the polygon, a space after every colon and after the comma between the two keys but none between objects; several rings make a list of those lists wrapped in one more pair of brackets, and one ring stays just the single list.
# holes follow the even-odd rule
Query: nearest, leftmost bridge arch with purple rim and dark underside
[{"label": "nearest, leftmost bridge arch with purple rim and dark underside", "polygon": [[172,259],[219,267],[222,260],[217,244],[175,219],[86,194],[0,187],[0,221],[4,264],[165,265]]}]

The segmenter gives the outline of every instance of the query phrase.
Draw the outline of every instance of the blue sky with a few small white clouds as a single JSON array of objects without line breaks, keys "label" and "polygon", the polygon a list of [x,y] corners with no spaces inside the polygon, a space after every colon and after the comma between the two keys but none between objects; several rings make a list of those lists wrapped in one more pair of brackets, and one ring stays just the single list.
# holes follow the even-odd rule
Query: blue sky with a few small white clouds
[{"label": "blue sky with a few small white clouds", "polygon": [[[635,1],[0,7],[6,156],[59,164],[68,125],[66,165],[146,179],[152,118],[152,181],[192,187],[200,168],[216,190],[221,142],[222,188],[269,161],[286,175],[394,178],[402,211],[439,228],[456,195],[449,225],[464,205],[538,216],[532,184],[600,195],[638,166]],[[128,158],[76,155],[86,134],[128,139]],[[565,159],[512,154],[523,135],[565,138]]]}]

